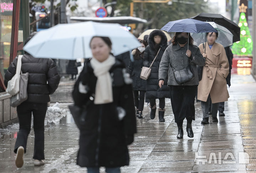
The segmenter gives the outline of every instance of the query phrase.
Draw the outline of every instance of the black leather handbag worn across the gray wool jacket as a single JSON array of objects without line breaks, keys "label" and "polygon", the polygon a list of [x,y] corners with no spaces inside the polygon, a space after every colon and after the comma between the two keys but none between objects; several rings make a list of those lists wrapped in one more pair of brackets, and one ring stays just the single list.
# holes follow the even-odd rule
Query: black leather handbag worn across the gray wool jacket
[{"label": "black leather handbag worn across the gray wool jacket", "polygon": [[190,66],[190,62],[188,66],[182,70],[175,70],[172,65],[171,65],[171,68],[172,68],[174,79],[178,84],[184,84],[194,77],[194,72],[192,67]]}]

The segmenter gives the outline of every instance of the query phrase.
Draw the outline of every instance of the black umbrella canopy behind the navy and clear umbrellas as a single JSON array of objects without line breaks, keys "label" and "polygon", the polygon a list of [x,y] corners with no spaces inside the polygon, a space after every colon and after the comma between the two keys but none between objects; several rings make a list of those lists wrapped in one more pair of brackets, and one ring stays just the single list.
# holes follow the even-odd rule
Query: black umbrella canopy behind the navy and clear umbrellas
[{"label": "black umbrella canopy behind the navy and clear umbrellas", "polygon": [[220,14],[200,13],[199,15],[191,18],[204,22],[215,22],[227,28],[233,34],[233,43],[240,41],[240,27],[235,22]]}]

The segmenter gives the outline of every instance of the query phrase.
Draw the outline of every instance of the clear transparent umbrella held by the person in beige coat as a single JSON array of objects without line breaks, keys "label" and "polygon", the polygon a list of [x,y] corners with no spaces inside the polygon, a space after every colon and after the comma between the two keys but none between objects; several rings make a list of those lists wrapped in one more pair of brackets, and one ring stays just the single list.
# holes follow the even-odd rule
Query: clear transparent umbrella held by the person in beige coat
[{"label": "clear transparent umbrella held by the person in beige coat", "polygon": [[[217,43],[222,44],[224,47],[231,46],[233,44],[233,34],[223,26],[216,24],[214,22],[210,23],[218,31],[218,38],[216,39]],[[191,36],[194,39],[194,45],[199,45],[206,41],[205,33],[192,33]]]}]

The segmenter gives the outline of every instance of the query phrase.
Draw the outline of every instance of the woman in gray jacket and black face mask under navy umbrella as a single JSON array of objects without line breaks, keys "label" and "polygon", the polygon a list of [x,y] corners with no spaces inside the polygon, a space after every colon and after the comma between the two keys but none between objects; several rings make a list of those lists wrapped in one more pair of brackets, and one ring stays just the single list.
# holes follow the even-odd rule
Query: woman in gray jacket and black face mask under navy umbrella
[{"label": "woman in gray jacket and black face mask under navy umbrella", "polygon": [[[189,39],[188,39],[189,37]],[[189,46],[188,46],[189,40]],[[194,72],[194,77],[188,82],[179,84],[176,82],[173,70],[182,70],[189,64]],[[189,138],[194,137],[192,120],[195,120],[195,95],[197,91],[198,74],[197,65],[204,66],[205,59],[199,48],[193,45],[193,38],[188,33],[177,32],[173,37],[172,45],[164,51],[159,67],[159,86],[162,87],[164,79],[168,75],[168,86],[170,86],[172,110],[175,122],[178,126],[178,139],[183,138],[183,120],[187,119],[187,133]]]}]

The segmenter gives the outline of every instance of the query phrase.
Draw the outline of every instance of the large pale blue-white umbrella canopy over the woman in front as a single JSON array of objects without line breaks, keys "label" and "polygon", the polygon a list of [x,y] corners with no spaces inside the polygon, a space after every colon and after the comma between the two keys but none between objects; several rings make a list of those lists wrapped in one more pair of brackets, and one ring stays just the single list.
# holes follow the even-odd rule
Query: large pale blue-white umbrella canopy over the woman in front
[{"label": "large pale blue-white umbrella canopy over the woman in front", "polygon": [[119,55],[139,47],[134,35],[125,31],[120,24],[80,22],[58,24],[38,32],[23,50],[37,58],[75,60],[91,58],[90,40],[94,36],[109,37],[112,53]]}]

